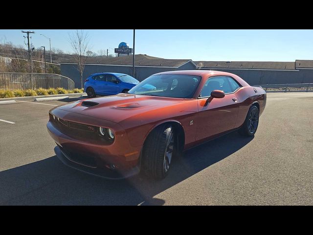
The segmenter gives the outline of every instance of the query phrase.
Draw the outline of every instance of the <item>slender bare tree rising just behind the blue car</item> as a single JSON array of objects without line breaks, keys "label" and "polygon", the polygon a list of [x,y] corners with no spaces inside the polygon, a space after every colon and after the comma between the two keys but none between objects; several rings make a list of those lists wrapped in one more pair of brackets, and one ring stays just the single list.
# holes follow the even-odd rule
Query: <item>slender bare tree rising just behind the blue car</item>
[{"label": "slender bare tree rising just behind the blue car", "polygon": [[87,51],[89,51],[88,34],[83,30],[76,30],[73,34],[69,34],[69,43],[74,51],[74,59],[77,63],[77,70],[80,73],[81,84],[83,88],[83,72],[87,60]]}]

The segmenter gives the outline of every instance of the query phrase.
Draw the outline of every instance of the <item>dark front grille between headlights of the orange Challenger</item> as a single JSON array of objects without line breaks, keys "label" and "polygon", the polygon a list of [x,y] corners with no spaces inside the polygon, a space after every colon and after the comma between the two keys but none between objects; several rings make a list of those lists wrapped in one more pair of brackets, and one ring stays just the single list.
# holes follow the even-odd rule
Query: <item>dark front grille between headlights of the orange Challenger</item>
[{"label": "dark front grille between headlights of the orange Challenger", "polygon": [[81,141],[108,145],[112,141],[99,134],[99,127],[67,121],[49,114],[52,125],[63,134]]}]

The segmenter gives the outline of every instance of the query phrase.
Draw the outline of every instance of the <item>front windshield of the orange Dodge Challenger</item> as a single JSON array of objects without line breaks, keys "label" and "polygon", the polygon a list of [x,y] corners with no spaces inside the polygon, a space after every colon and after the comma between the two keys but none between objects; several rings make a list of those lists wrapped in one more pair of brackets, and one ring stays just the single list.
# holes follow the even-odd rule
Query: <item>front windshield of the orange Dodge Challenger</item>
[{"label": "front windshield of the orange Dodge Challenger", "polygon": [[200,76],[194,75],[152,75],[134,86],[128,93],[173,98],[192,98],[200,80]]}]

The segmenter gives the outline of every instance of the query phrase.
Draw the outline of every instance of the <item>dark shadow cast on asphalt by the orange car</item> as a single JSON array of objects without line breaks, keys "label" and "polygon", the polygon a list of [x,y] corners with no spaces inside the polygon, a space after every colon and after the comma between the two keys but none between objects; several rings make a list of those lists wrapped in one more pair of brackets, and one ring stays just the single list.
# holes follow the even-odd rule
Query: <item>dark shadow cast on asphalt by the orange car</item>
[{"label": "dark shadow cast on asphalt by the orange car", "polygon": [[106,180],[67,167],[53,156],[1,171],[0,205],[163,205],[165,201],[155,195],[223,160],[252,139],[233,132],[187,150],[173,160],[168,176],[160,181],[143,175]]}]

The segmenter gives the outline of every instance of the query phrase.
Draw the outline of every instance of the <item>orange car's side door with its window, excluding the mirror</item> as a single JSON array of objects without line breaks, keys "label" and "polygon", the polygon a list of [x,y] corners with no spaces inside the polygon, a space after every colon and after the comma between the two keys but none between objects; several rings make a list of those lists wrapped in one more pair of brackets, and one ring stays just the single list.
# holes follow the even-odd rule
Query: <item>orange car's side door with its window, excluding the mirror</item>
[{"label": "orange car's side door with its window, excluding the mirror", "polygon": [[[197,140],[213,137],[235,128],[239,111],[238,98],[228,76],[210,77],[198,99]],[[205,105],[214,90],[224,91],[224,98],[213,98]]]}]

